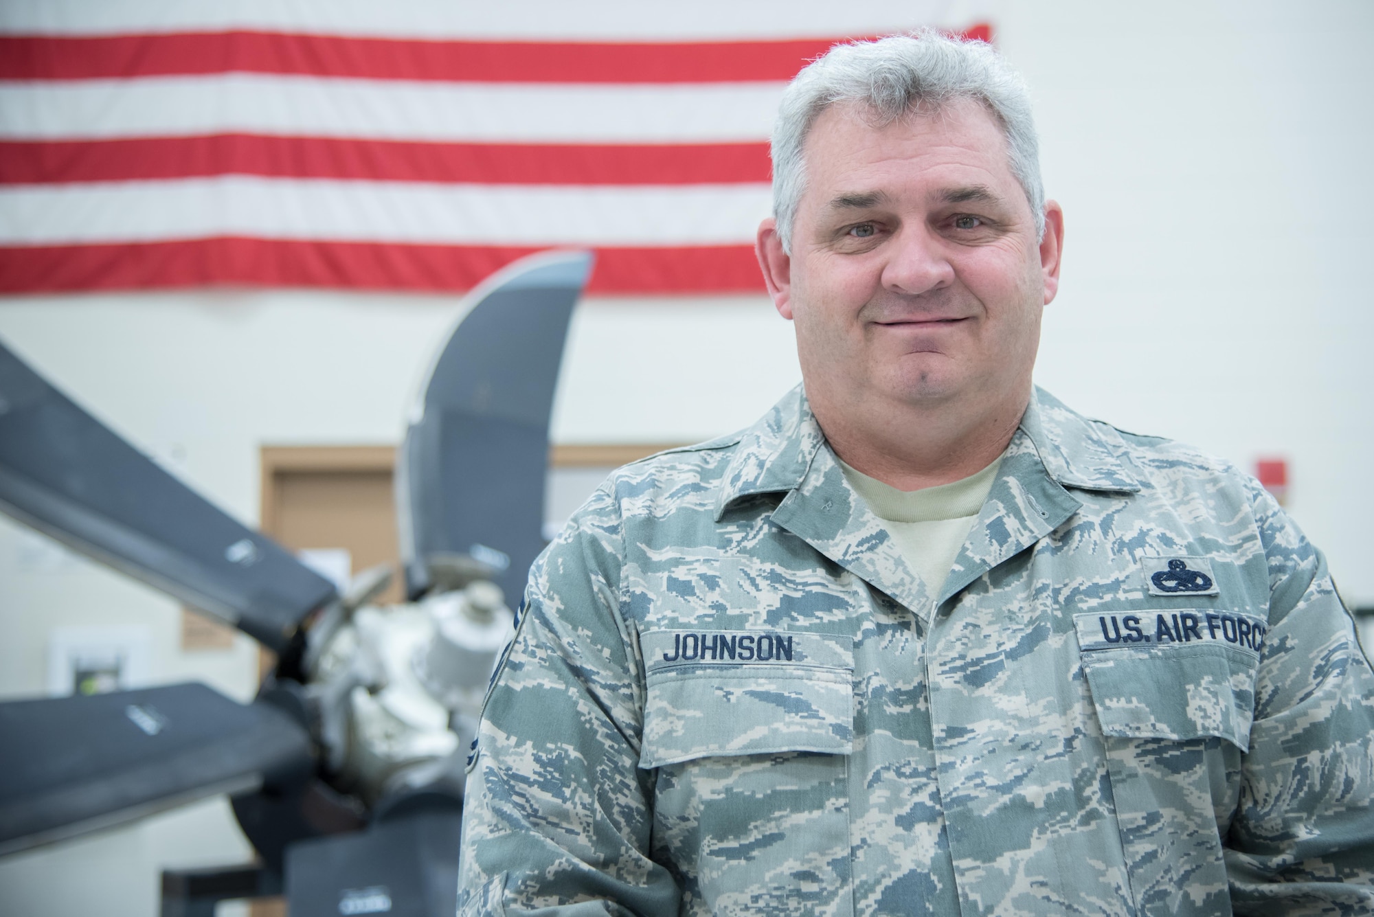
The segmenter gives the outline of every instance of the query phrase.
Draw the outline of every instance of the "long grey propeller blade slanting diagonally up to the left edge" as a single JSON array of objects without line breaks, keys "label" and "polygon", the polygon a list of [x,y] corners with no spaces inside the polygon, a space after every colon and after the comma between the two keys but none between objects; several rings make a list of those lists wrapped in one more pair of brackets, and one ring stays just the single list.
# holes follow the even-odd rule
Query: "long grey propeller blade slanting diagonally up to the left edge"
[{"label": "long grey propeller blade slanting diagonally up to the left edge", "polygon": [[282,652],[333,583],[235,522],[0,345],[0,512]]}]

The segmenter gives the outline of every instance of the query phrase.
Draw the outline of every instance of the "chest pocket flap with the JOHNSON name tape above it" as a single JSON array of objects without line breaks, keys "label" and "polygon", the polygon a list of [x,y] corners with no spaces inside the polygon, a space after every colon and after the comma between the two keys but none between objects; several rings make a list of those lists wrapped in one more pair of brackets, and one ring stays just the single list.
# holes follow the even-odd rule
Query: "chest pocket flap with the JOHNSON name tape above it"
[{"label": "chest pocket flap with the JOHNSON name tape above it", "polygon": [[640,634],[647,669],[639,766],[853,750],[849,637],[753,630]]}]

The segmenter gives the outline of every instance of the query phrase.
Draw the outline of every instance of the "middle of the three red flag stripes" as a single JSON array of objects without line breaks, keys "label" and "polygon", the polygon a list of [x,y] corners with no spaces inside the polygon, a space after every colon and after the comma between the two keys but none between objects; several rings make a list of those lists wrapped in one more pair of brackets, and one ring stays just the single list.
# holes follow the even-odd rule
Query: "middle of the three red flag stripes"
[{"label": "middle of the three red flag stripes", "polygon": [[0,141],[0,184],[253,174],[473,184],[676,185],[768,181],[767,143],[481,144],[328,137]]}]

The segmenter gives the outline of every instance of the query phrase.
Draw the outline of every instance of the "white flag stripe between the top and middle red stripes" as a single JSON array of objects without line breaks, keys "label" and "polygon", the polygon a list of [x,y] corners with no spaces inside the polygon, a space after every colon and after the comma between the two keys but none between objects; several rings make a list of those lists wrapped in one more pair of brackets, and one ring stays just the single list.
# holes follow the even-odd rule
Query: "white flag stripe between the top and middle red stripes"
[{"label": "white flag stripe between the top and middle red stripes", "polygon": [[436,141],[765,140],[780,82],[447,84],[227,74],[0,82],[0,137],[205,133]]}]

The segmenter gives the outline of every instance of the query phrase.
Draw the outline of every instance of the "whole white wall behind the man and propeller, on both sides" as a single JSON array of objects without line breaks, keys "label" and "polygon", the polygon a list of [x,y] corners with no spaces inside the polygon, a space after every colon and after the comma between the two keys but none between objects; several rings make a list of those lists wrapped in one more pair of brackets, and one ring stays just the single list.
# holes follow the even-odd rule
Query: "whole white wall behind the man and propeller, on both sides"
[{"label": "whole white wall behind the man and propeller, on both sides", "polygon": [[[1374,7],[1024,0],[991,15],[1036,95],[1046,185],[1068,214],[1039,382],[1242,467],[1286,456],[1293,515],[1347,599],[1374,604],[1374,535],[1360,524],[1374,515],[1362,486],[1374,450]],[[452,297],[319,291],[21,297],[0,301],[0,339],[253,520],[260,445],[396,441],[456,309]],[[699,439],[749,423],[798,378],[790,328],[763,297],[594,299],[574,320],[554,437]],[[49,626],[96,620],[151,626],[159,681],[199,674],[251,695],[246,641],[181,653],[170,601],[33,553],[0,522],[0,696],[41,690]],[[207,803],[0,861],[0,912],[99,902],[147,914],[159,866],[246,852],[223,803]],[[99,896],[47,896],[77,870]]]}]

